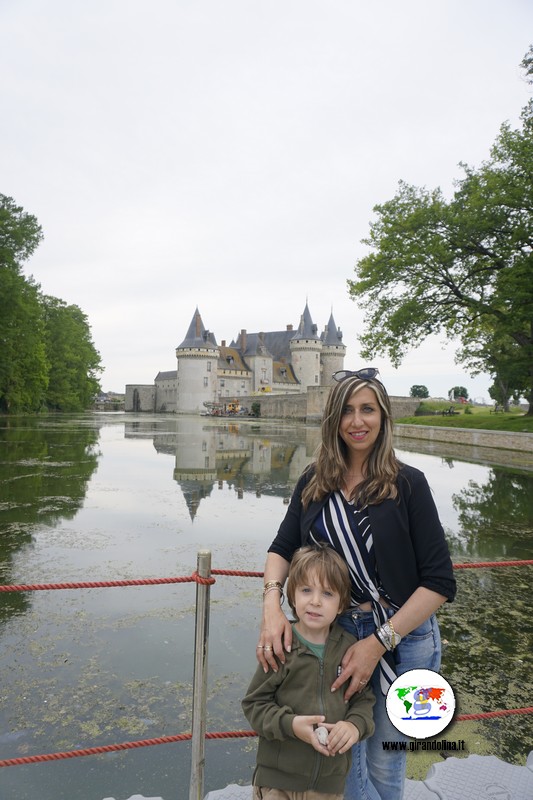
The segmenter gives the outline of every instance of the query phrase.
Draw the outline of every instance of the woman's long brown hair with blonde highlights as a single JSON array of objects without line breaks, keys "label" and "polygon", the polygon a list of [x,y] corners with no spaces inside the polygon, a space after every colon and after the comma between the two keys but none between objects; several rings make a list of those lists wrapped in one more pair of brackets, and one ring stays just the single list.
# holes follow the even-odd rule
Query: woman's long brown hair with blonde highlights
[{"label": "woman's long brown hair with blonde highlights", "polygon": [[389,396],[383,384],[375,378],[362,380],[356,376],[332,386],[322,419],[321,443],[316,454],[314,474],[302,492],[304,507],[326,494],[342,489],[349,470],[349,451],[339,435],[344,408],[354,392],[368,387],[376,395],[381,409],[381,429],[364,463],[365,477],[354,490],[354,497],[361,505],[380,503],[397,497],[396,480],[400,462],[392,445],[392,410]]}]

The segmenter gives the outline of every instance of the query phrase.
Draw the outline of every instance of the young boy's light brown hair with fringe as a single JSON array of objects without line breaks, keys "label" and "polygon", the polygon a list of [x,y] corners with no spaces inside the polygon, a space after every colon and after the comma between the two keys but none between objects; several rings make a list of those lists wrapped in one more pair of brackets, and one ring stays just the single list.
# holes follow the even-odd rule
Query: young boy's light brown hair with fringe
[{"label": "young boy's light brown hair with fringe", "polygon": [[308,545],[294,553],[287,579],[287,600],[295,617],[295,591],[309,582],[311,572],[316,573],[322,586],[339,593],[342,611],[350,607],[351,583],[346,562],[327,544]]}]

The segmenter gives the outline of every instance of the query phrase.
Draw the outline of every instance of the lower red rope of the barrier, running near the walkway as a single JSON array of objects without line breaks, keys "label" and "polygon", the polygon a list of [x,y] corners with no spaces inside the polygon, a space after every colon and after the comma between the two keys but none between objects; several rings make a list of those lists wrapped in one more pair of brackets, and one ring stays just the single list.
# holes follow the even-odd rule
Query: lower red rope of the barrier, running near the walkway
[{"label": "lower red rope of the barrier, running near the walkway", "polygon": [[[513,714],[531,714],[533,706],[525,708],[509,708],[501,711],[485,711],[479,714],[460,714],[455,717],[455,722],[466,722],[470,720],[492,719],[493,717],[508,717]],[[257,736],[255,731],[220,731],[206,733],[206,739],[244,739]],[[80,750],[67,750],[61,753],[46,753],[38,756],[20,756],[19,758],[6,758],[0,761],[1,767],[17,767],[22,764],[41,764],[45,761],[61,761],[66,758],[80,758],[82,756],[103,755],[105,753],[115,753],[121,750],[134,750],[139,747],[152,747],[159,744],[173,744],[174,742],[184,742],[192,738],[191,733],[179,733],[175,736],[159,736],[155,739],[139,739],[135,742],[122,742],[121,744],[107,744],[101,747],[85,747]]]}]

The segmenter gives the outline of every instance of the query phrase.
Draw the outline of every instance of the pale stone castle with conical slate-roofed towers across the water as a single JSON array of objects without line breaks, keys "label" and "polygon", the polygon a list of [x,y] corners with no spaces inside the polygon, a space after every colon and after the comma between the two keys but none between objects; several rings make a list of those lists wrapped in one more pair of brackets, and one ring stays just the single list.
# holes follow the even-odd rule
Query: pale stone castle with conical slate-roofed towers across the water
[{"label": "pale stone castle with conical slate-roofed towers across the water", "polygon": [[176,348],[177,369],[159,372],[153,385],[128,384],[125,410],[200,414],[240,397],[306,393],[310,386],[328,386],[345,354],[333,313],[319,334],[307,303],[296,330],[241,330],[229,346],[217,344],[197,308]]}]

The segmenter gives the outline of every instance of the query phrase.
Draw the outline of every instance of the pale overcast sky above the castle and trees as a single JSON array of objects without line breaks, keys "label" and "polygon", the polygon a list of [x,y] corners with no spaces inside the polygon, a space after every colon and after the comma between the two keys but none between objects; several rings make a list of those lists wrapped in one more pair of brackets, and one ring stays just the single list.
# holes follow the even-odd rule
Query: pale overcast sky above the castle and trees
[{"label": "pale overcast sky above the castle and trees", "polygon": [[[347,280],[398,182],[446,196],[519,125],[530,0],[0,0],[0,193],[27,262],[87,315],[105,391],[176,368],[198,307],[229,344],[331,312],[363,366]],[[393,395],[489,376],[435,336]]]}]

